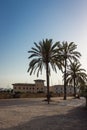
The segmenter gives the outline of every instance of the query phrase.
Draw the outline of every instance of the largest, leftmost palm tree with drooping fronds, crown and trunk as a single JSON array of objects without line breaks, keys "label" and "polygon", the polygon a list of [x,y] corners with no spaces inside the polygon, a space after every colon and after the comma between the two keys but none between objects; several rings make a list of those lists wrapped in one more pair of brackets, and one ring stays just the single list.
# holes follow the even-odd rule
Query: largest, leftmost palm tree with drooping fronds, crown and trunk
[{"label": "largest, leftmost palm tree with drooping fronds, crown and trunk", "polygon": [[45,67],[46,70],[46,80],[47,80],[47,101],[49,104],[50,101],[50,93],[49,93],[49,75],[50,75],[50,67],[57,72],[57,67],[61,69],[60,62],[58,63],[58,58],[56,58],[56,48],[57,43],[53,44],[52,39],[46,39],[40,41],[38,44],[34,43],[35,47],[32,47],[28,53],[31,55],[28,57],[31,59],[29,62],[29,68],[28,72],[30,72],[30,75],[32,73],[35,73],[37,71],[37,76],[41,72],[43,67]]}]

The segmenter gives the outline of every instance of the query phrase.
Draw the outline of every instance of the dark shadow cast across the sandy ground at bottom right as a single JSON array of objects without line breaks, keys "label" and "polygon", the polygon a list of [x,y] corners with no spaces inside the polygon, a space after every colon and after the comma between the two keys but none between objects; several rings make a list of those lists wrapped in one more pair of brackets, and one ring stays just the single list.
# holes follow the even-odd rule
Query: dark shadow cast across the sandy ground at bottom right
[{"label": "dark shadow cast across the sandy ground at bottom right", "polygon": [[37,116],[27,123],[0,130],[87,130],[87,109],[80,106],[66,114]]}]

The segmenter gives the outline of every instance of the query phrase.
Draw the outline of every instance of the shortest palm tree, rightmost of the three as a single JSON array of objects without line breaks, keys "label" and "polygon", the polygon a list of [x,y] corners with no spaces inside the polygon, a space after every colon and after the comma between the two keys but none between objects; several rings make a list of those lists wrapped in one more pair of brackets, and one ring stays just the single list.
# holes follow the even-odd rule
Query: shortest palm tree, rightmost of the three
[{"label": "shortest palm tree, rightmost of the three", "polygon": [[76,87],[85,84],[87,81],[86,70],[81,68],[81,64],[77,62],[71,62],[67,71],[67,83],[73,84],[74,96],[76,97]]}]

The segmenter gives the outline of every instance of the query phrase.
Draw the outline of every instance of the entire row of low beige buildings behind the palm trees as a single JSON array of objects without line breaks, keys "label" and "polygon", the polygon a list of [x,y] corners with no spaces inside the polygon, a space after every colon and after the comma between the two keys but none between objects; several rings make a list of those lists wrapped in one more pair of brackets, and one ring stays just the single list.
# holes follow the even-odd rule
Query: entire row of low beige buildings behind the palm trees
[{"label": "entire row of low beige buildings behind the palm trees", "polygon": [[[13,84],[13,91],[14,92],[30,92],[30,93],[47,93],[47,87],[44,86],[45,80],[34,80],[34,84],[28,84],[28,83],[15,83]],[[49,88],[50,92],[62,95],[64,94],[64,85],[53,85]],[[66,92],[68,95],[74,94],[74,87],[73,86],[67,86]]]}]

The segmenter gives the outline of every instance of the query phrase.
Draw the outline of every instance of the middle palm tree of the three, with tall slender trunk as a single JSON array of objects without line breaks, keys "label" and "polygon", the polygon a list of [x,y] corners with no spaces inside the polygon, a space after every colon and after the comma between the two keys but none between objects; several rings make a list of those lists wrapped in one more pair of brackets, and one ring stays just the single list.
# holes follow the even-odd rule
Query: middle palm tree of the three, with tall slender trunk
[{"label": "middle palm tree of the three, with tall slender trunk", "polygon": [[63,67],[64,67],[64,100],[66,100],[66,72],[67,72],[67,66],[68,63],[73,59],[73,60],[77,60],[81,54],[77,51],[75,51],[77,49],[77,45],[75,45],[73,42],[68,43],[66,42],[62,42],[62,44],[60,44],[58,42],[58,55],[60,53],[60,57],[63,60]]}]

